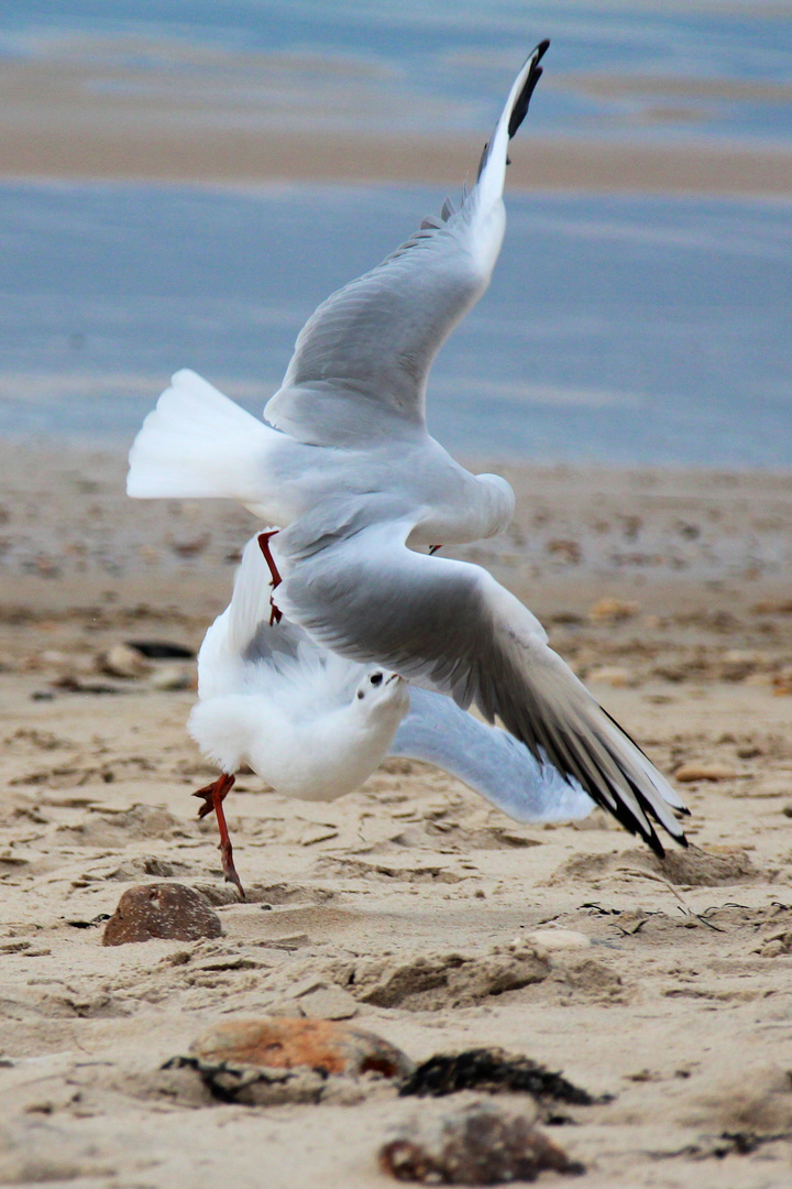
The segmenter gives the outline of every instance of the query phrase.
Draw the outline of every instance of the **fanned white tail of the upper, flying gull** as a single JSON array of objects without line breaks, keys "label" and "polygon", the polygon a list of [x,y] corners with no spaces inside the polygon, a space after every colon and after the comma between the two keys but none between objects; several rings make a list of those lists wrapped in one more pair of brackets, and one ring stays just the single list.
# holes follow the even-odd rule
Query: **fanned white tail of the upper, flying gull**
[{"label": "fanned white tail of the upper, flying gull", "polygon": [[178,371],[129,451],[127,495],[258,502],[280,435],[192,371]]}]

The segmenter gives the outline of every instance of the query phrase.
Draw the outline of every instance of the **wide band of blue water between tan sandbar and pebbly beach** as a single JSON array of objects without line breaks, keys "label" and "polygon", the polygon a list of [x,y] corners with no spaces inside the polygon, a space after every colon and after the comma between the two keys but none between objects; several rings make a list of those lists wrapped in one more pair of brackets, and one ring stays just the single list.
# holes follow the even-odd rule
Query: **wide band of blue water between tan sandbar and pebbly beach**
[{"label": "wide band of blue water between tan sandbar and pebbly beach", "polygon": [[[0,187],[6,433],[128,440],[191,366],[260,411],[300,326],[429,189]],[[511,195],[430,428],[545,461],[792,463],[792,206]]]}]

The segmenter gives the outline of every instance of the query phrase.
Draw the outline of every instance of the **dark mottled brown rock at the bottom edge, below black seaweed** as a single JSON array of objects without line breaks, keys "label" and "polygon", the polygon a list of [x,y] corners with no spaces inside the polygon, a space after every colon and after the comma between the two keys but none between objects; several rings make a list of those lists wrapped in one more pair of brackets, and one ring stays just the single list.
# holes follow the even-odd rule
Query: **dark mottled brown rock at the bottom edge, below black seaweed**
[{"label": "dark mottled brown rock at the bottom edge, below black seaweed", "polygon": [[380,1149],[379,1163],[397,1181],[420,1184],[492,1185],[536,1181],[545,1169],[585,1171],[534,1125],[531,1112],[490,1102],[406,1120]]}]

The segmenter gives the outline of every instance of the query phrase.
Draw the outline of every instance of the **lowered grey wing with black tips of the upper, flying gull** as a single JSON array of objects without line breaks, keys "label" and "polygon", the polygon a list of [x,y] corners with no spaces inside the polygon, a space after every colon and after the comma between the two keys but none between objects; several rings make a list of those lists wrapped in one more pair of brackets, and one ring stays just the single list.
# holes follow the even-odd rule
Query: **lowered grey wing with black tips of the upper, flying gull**
[{"label": "lowered grey wing with black tips of the upper, flying gull", "polygon": [[486,570],[413,553],[411,523],[374,524],[309,555],[289,555],[280,610],[319,643],[357,661],[475,702],[537,760],[565,776],[664,854],[653,820],[679,843],[678,795],[546,643],[538,621]]}]

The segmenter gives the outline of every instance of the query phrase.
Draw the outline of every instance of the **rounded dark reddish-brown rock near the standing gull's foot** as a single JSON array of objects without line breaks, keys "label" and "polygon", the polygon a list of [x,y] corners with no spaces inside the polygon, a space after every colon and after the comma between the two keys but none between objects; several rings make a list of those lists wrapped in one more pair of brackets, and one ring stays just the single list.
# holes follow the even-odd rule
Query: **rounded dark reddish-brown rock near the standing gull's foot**
[{"label": "rounded dark reddish-brown rock near the standing gull's foot", "polygon": [[102,945],[126,945],[163,937],[195,942],[220,937],[220,917],[184,883],[139,883],[127,888],[102,935]]}]

